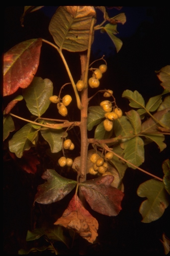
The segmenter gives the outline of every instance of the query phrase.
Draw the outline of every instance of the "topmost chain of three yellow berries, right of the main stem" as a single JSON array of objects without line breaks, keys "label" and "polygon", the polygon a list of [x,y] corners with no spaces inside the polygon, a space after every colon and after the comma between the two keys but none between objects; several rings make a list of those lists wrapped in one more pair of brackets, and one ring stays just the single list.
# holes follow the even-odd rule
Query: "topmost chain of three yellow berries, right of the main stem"
[{"label": "topmost chain of three yellow berries, right of the main stem", "polygon": [[97,68],[93,72],[93,76],[89,78],[89,86],[91,88],[97,88],[100,85],[99,80],[102,78],[102,74],[106,72],[107,66],[105,64],[100,65],[99,68]]}]

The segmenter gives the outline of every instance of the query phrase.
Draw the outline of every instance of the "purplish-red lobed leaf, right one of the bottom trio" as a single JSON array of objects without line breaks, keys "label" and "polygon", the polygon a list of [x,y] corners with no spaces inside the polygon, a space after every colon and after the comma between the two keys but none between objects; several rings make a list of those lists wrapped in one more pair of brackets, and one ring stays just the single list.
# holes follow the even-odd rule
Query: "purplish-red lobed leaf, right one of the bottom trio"
[{"label": "purplish-red lobed leaf, right one of the bottom trio", "polygon": [[107,216],[119,214],[122,209],[121,201],[124,197],[122,191],[110,185],[113,179],[112,175],[106,175],[80,184],[81,191],[90,207]]}]

